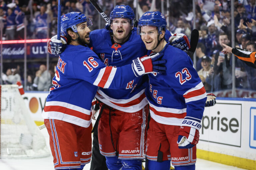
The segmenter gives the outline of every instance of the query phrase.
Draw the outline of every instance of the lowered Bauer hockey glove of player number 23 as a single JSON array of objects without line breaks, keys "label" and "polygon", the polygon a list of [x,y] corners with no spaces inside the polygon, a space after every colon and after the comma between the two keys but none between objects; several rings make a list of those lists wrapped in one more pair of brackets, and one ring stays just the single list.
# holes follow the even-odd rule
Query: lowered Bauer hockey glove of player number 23
[{"label": "lowered Bauer hockey glove of player number 23", "polygon": [[201,123],[194,118],[185,117],[181,123],[178,136],[178,146],[180,149],[192,148],[199,141],[199,130]]}]

